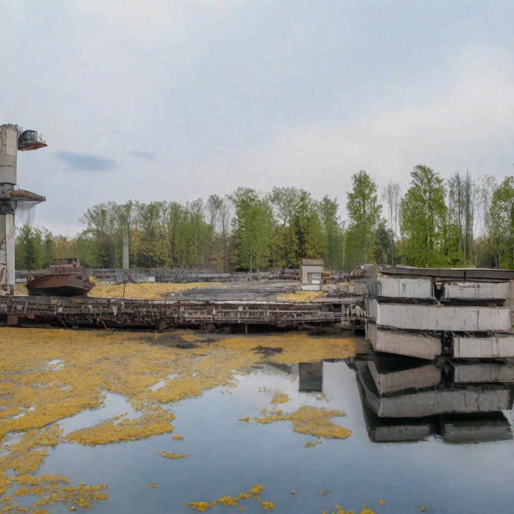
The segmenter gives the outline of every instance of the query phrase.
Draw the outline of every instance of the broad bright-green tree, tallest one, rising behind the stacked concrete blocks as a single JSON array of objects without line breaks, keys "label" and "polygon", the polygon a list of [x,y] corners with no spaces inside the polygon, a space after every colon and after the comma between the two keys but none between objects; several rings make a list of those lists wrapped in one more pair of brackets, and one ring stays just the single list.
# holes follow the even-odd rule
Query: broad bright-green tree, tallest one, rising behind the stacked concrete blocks
[{"label": "broad bright-green tree, tallest one, rising behind the stacked concrete blocks", "polygon": [[444,181],[431,168],[418,164],[411,172],[410,185],[400,204],[406,264],[444,265],[441,252],[446,216]]}]

